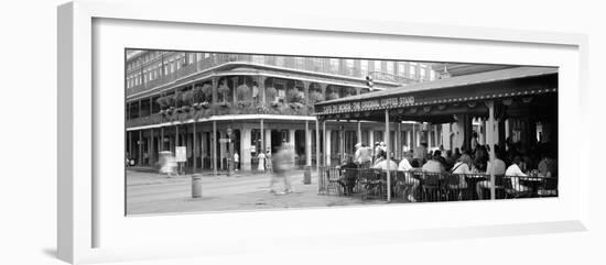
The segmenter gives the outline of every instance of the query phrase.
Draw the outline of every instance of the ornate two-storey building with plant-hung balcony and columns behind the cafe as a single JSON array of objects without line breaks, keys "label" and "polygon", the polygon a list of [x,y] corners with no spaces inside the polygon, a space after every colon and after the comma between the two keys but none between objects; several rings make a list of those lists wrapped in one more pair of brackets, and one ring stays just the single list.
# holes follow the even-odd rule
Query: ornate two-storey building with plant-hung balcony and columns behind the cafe
[{"label": "ornate two-storey building with plant-hung balcony and columns behind the cafe", "polygon": [[[317,136],[329,162],[340,163],[357,142],[380,142],[385,132],[374,122],[340,120],[326,124],[322,139],[314,103],[435,77],[429,64],[415,62],[127,51],[126,155],[137,166],[153,166],[159,152],[186,146],[187,170],[227,169],[235,153],[250,170],[259,152],[286,142],[296,165],[312,166]],[[440,130],[400,123],[390,132],[399,139],[392,150],[437,145]]]}]

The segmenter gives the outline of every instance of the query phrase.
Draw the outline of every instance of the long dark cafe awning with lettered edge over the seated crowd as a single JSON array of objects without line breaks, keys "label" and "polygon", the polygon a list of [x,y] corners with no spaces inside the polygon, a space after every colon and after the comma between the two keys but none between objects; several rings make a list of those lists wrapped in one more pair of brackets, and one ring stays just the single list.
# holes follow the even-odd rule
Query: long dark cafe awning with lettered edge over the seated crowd
[{"label": "long dark cafe awning with lettered edge over the seated crowd", "polygon": [[382,120],[380,113],[393,110],[401,117],[424,112],[435,122],[447,122],[455,113],[484,112],[475,108],[480,101],[553,95],[556,89],[556,67],[523,66],[318,102],[315,111],[323,120]]}]

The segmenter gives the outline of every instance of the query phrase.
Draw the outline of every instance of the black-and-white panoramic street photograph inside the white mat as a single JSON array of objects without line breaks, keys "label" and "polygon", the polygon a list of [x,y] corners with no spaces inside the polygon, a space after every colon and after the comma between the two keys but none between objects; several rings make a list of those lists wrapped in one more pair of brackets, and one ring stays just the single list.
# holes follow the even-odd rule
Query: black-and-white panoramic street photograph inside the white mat
[{"label": "black-and-white panoramic street photograph inside the white mat", "polygon": [[125,49],[126,214],[558,197],[558,67]]}]

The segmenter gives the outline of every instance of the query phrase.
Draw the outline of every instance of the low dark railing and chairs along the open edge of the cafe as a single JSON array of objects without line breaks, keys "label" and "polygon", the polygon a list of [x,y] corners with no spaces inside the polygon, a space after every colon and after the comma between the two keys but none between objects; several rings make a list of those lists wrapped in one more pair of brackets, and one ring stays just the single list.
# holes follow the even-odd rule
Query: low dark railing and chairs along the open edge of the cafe
[{"label": "low dark railing and chairs along the open edge of the cafe", "polygon": [[[361,200],[387,200],[387,172],[377,168],[323,167],[318,178],[318,194],[359,197]],[[391,200],[398,202],[432,202],[488,200],[491,190],[477,183],[490,179],[489,174],[428,173],[420,169],[390,170]],[[462,181],[464,179],[465,181]],[[495,176],[495,198],[556,197],[558,178],[538,175],[511,177]]]}]

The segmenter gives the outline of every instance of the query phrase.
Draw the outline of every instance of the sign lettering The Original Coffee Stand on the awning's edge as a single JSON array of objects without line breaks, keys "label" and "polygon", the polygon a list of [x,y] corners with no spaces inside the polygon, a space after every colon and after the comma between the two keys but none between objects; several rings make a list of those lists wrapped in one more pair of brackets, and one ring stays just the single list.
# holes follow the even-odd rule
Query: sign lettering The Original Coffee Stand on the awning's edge
[{"label": "sign lettering The Original Coffee Stand on the awning's edge", "polygon": [[394,97],[372,100],[361,100],[356,102],[324,106],[324,112],[351,112],[369,109],[387,109],[392,107],[407,107],[414,104],[414,97]]}]

